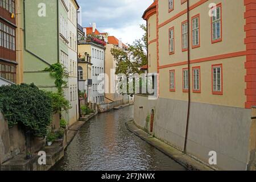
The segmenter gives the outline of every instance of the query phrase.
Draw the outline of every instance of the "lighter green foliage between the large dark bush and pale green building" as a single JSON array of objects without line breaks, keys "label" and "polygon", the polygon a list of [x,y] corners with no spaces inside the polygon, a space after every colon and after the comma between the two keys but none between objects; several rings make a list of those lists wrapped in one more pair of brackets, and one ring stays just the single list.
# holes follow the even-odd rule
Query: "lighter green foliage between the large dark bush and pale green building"
[{"label": "lighter green foliage between the large dark bush and pale green building", "polygon": [[61,111],[67,112],[71,109],[70,102],[64,98],[62,93],[47,92],[47,95],[51,98],[53,114],[61,113]]}]

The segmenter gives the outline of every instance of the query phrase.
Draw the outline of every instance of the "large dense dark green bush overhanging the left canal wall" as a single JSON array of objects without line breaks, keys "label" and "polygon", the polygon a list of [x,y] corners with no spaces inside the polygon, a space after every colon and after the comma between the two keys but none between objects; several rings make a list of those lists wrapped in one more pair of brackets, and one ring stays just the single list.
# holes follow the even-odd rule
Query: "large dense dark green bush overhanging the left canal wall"
[{"label": "large dense dark green bush overhanging the left canal wall", "polygon": [[20,124],[38,137],[47,134],[51,123],[51,98],[34,84],[0,87],[0,108],[9,127]]}]

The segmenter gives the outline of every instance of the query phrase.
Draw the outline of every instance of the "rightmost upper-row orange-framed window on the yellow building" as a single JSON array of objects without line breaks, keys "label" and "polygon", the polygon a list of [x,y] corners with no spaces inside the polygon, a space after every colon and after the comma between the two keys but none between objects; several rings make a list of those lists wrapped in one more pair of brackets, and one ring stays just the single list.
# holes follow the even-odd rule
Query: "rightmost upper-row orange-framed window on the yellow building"
[{"label": "rightmost upper-row orange-framed window on the yellow building", "polygon": [[221,3],[212,9],[212,43],[222,40]]}]

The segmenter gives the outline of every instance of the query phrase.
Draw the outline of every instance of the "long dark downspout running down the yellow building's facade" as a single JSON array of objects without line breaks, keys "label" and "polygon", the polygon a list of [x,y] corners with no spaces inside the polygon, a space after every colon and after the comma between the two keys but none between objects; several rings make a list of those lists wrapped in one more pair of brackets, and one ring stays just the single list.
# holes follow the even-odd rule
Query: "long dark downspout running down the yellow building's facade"
[{"label": "long dark downspout running down the yellow building's facade", "polygon": [[184,153],[186,153],[187,151],[188,126],[189,126],[189,115],[190,115],[190,105],[191,105],[189,0],[187,0],[187,20],[188,20],[188,112],[187,112],[187,123],[186,123],[186,130],[185,130],[186,133],[185,133],[185,142],[184,142],[184,150],[183,150]]}]

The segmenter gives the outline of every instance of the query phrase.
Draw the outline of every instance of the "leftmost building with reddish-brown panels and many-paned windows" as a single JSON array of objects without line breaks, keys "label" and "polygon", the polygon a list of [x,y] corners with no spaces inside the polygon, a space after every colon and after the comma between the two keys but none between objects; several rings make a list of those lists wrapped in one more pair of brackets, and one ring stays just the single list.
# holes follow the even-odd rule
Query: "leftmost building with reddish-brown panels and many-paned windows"
[{"label": "leftmost building with reddish-brown panels and many-paned windows", "polygon": [[22,82],[22,44],[18,1],[0,1],[0,85]]}]

